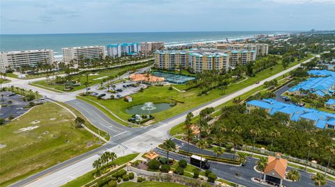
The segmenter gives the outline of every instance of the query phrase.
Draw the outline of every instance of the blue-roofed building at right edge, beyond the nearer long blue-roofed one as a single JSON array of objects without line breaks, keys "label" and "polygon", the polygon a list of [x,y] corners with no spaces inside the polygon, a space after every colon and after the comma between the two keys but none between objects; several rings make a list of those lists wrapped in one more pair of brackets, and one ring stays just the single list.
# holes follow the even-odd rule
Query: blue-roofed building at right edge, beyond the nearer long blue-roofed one
[{"label": "blue-roofed building at right edge, beyond the nearer long blue-roofed one", "polygon": [[308,94],[315,94],[318,97],[333,95],[335,89],[335,77],[311,77],[297,86],[288,90],[289,95],[298,95],[300,97]]}]

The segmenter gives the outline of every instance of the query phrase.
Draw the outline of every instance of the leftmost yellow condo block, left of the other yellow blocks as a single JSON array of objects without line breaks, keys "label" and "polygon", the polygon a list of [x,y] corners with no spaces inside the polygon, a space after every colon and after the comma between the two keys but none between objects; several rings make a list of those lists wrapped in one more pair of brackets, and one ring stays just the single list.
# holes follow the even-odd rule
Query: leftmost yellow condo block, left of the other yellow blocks
[{"label": "leftmost yellow condo block, left of the other yellow blocks", "polygon": [[155,51],[155,66],[161,70],[186,70],[188,56],[188,51]]}]

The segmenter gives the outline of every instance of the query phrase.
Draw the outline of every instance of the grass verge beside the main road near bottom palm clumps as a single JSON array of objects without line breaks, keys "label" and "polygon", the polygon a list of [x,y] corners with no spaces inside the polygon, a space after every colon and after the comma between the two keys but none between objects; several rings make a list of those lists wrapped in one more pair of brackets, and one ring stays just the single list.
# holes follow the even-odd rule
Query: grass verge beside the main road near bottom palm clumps
[{"label": "grass verge beside the main road near bottom palm clumps", "polygon": [[[127,163],[133,158],[135,158],[138,155],[138,153],[134,154],[128,154],[126,156],[121,156],[114,160],[114,163],[117,165],[123,165],[124,163]],[[81,177],[78,177],[77,179],[74,179],[73,181],[69,181],[67,184],[64,184],[62,187],[71,187],[71,186],[84,186],[84,184],[89,183],[90,181],[93,181],[94,178],[94,170],[91,172],[88,172],[87,174],[82,175]]]}]

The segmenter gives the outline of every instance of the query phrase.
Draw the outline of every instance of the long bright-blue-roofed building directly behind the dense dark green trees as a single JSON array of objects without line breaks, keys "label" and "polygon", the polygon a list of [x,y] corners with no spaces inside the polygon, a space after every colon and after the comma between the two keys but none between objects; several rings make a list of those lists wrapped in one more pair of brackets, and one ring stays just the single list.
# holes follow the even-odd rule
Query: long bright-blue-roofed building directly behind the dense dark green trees
[{"label": "long bright-blue-roofed building directly behind the dense dark green trees", "polygon": [[335,114],[318,111],[313,108],[285,104],[275,99],[251,100],[246,102],[246,112],[255,109],[265,110],[270,115],[282,113],[288,115],[292,121],[311,122],[318,129],[335,129]]}]

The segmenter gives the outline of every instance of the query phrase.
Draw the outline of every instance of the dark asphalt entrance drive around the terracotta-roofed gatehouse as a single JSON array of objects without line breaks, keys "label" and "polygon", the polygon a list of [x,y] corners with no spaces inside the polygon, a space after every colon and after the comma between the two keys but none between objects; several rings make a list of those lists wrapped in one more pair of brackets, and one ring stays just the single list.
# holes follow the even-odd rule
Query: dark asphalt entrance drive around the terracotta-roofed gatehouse
[{"label": "dark asphalt entrance drive around the terracotta-roofed gatehouse", "polygon": [[[187,151],[187,143],[184,143],[183,141],[180,140],[176,140],[173,139],[174,143],[177,143],[177,145],[179,145],[179,149],[185,150]],[[184,145],[182,144],[184,143]],[[202,150],[199,149],[198,147],[195,147],[193,145],[191,145],[190,147],[190,151],[191,152],[196,152],[199,154],[207,154],[207,155],[215,155],[214,152],[211,152],[209,150]],[[161,154],[162,156],[166,156],[166,152],[163,151],[162,149],[155,149],[155,152],[157,152],[158,154]],[[176,154],[174,152],[170,152],[169,153],[169,158],[175,159],[180,161],[181,159],[185,159],[188,163],[189,163],[189,156],[184,156],[181,154]],[[234,165],[227,165],[224,163],[216,163],[216,162],[212,162],[209,161],[210,169],[212,172],[214,172],[214,174],[216,174],[218,177],[222,178],[222,179],[226,179],[228,181],[232,181],[234,183],[237,184],[241,184],[243,186],[250,186],[250,187],[256,187],[256,186],[265,186],[263,184],[258,184],[254,181],[251,181],[251,178],[253,177],[257,177],[260,178],[261,174],[259,172],[256,172],[254,170],[255,165],[257,165],[257,161],[258,159],[256,158],[250,158],[248,157],[246,165],[245,166],[234,166]],[[290,168],[288,167],[288,170],[295,170],[295,168]],[[305,172],[304,170],[299,170],[300,174],[301,174],[301,179],[299,181],[296,182],[292,182],[292,181],[283,181],[283,186],[287,186],[287,187],[307,187],[307,186],[315,186],[313,180],[311,179],[311,174]],[[235,173],[239,173],[240,176],[239,177],[235,177]],[[326,185],[326,187],[331,187],[331,186],[335,186],[335,182],[334,181],[328,181],[328,184]]]}]

